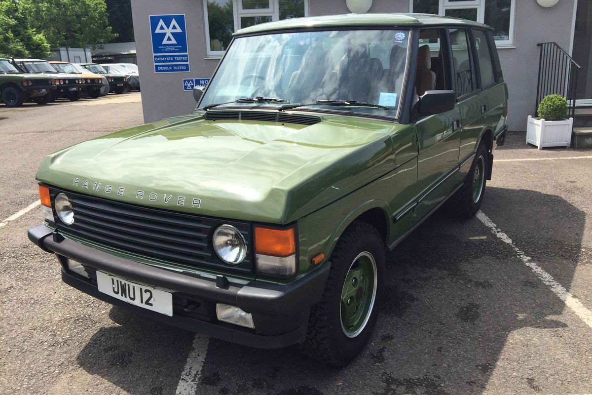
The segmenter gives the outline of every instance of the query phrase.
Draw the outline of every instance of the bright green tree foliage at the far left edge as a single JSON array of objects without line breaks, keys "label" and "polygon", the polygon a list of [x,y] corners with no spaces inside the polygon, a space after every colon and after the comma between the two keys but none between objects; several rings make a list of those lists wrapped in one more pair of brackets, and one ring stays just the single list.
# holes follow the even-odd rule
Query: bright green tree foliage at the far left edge
[{"label": "bright green tree foliage at the far left edge", "polygon": [[0,0],[0,56],[49,57],[49,44],[43,34],[31,27],[28,15],[14,0]]}]

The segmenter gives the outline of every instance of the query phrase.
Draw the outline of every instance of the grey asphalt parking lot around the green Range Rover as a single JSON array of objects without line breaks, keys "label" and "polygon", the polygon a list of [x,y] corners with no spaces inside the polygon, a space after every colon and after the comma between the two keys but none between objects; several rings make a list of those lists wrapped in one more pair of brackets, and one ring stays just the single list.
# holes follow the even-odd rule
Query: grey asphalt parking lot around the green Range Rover
[{"label": "grey asphalt parking lot around the green Range Rover", "polygon": [[592,152],[510,134],[477,218],[440,210],[390,253],[372,342],[337,370],[111,307],[28,241],[44,154],[140,124],[139,98],[0,105],[0,393],[592,393]]}]

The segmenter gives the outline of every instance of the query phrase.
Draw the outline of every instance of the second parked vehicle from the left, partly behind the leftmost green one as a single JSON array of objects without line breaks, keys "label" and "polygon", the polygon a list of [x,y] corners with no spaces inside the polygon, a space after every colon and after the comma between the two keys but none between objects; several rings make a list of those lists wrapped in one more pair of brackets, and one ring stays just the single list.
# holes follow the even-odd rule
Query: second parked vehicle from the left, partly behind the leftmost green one
[{"label": "second parked vehicle from the left, partly behind the leftmost green one", "polygon": [[54,79],[56,89],[51,91],[51,101],[57,98],[67,98],[77,101],[82,97],[82,78],[77,75],[60,73],[47,60],[41,59],[15,59],[15,65],[25,73],[44,74]]}]

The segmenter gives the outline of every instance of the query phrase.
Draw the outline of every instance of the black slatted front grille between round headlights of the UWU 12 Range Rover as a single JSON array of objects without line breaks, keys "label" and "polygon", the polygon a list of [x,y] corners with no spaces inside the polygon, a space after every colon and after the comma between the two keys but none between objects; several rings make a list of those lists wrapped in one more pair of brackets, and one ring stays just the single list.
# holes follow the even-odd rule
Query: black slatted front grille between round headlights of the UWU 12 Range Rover
[{"label": "black slatted front grille between round headlights of the UWU 12 Range Rover", "polygon": [[[72,203],[75,223],[65,226],[58,220],[57,225],[82,239],[168,262],[253,272],[252,231],[248,223],[158,210],[57,189],[51,190],[52,203],[59,192],[64,192]],[[212,234],[221,224],[236,227],[247,242],[247,257],[240,265],[224,264],[214,252]]]}]

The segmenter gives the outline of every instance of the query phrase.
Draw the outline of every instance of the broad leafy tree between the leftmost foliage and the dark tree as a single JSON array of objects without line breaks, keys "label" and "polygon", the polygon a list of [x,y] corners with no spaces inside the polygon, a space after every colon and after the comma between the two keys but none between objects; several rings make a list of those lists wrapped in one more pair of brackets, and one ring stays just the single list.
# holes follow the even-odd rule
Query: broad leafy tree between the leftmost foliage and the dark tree
[{"label": "broad leafy tree between the leftmost foliage and the dark tree", "polygon": [[94,46],[117,37],[108,23],[105,0],[21,0],[20,4],[53,48]]}]

